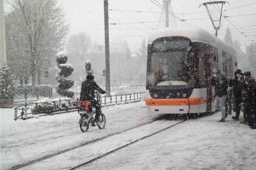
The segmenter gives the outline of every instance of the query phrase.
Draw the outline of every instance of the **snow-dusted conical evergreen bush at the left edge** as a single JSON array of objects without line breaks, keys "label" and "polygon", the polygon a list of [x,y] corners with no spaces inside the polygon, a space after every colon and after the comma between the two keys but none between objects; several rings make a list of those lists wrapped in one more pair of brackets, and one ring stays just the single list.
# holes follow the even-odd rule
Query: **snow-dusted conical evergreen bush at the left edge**
[{"label": "snow-dusted conical evergreen bush at the left edge", "polygon": [[11,74],[8,66],[0,69],[0,99],[13,99],[17,86],[14,75]]}]

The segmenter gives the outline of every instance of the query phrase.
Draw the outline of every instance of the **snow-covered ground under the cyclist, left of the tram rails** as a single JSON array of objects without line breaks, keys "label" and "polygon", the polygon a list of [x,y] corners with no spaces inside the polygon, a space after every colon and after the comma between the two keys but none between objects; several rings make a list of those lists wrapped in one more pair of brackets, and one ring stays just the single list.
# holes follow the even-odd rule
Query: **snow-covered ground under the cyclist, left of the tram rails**
[{"label": "snow-covered ground under the cyclist, left of the tram rails", "polygon": [[77,111],[15,121],[13,109],[1,108],[1,167],[10,168],[153,119],[146,115],[144,101],[102,110],[107,120],[105,129],[92,127],[82,133]]}]

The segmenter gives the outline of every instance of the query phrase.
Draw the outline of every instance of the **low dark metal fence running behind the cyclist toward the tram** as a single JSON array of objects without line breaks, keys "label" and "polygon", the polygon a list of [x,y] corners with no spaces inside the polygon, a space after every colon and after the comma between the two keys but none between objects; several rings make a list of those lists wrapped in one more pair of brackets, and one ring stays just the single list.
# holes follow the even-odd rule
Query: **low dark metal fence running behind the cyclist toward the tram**
[{"label": "low dark metal fence running behind the cyclist toward the tram", "polygon": [[[140,101],[142,99],[144,99],[146,96],[146,91],[143,91],[143,92],[139,92],[139,93],[129,93],[129,94],[123,94],[123,95],[115,95],[115,96],[110,96],[110,97],[107,97],[106,95],[104,96],[101,96],[101,99],[102,99],[102,107],[104,106],[108,106],[108,105],[111,105],[111,104],[119,104],[119,103],[122,103],[122,102],[131,102],[131,101]],[[76,98],[76,99],[68,99],[68,100],[61,100],[59,99],[58,101],[52,101],[54,103],[55,106],[61,106],[61,102],[62,101],[66,101],[68,102],[68,104],[71,106],[72,105],[72,101],[76,101],[76,106],[71,106],[71,107],[68,107],[68,108],[62,108],[62,107],[59,107],[58,109],[56,109],[55,111],[51,111],[50,113],[54,113],[54,112],[58,112],[58,111],[68,111],[68,110],[72,110],[72,109],[78,109],[78,101],[79,101],[79,98]],[[37,102],[34,102],[32,104],[28,104],[28,103],[24,103],[18,107],[16,107],[14,110],[14,116],[15,116],[15,119],[14,120],[17,120],[19,117],[21,117],[21,119],[23,119],[23,116],[27,117],[28,114],[34,114],[32,111],[31,112],[28,112],[28,110],[30,109],[28,106],[32,106],[32,105],[36,105],[38,106],[38,104],[46,104],[47,102],[42,102],[42,103],[37,103]],[[21,111],[20,112],[20,115],[18,116],[18,111]],[[39,112],[36,112],[35,114],[41,114],[41,113],[44,113],[44,114],[48,114],[47,111],[39,111]]]}]

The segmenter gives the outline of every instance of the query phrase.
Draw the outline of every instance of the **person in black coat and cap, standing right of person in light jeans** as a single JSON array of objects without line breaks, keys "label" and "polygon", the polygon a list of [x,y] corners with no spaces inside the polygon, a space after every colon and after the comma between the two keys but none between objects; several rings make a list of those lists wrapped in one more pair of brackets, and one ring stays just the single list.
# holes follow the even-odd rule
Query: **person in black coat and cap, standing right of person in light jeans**
[{"label": "person in black coat and cap, standing right of person in light jeans", "polygon": [[238,81],[238,78],[242,79],[243,74],[240,69],[235,71],[235,76],[229,82],[229,87],[233,88],[234,95],[234,105],[235,105],[235,116],[232,116],[232,119],[239,120],[241,101],[242,101],[242,85],[241,82]]}]

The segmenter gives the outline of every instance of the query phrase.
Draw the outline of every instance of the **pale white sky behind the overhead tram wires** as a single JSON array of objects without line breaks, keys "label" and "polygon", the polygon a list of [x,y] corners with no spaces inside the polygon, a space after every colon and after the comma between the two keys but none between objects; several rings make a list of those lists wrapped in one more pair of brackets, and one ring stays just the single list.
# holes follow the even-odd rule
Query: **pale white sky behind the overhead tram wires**
[{"label": "pale white sky behind the overhead tram wires", "polygon": [[[155,0],[152,0],[156,3]],[[59,0],[59,3],[64,7],[67,12],[66,19],[71,25],[70,33],[77,33],[79,31],[87,32],[91,35],[92,41],[98,42],[104,45],[104,1],[103,0]],[[157,0],[157,2],[162,4],[162,0]],[[204,2],[209,2],[209,0],[172,0],[172,9],[173,13],[193,13],[193,12],[205,12],[205,13],[196,13],[196,14],[183,14],[183,19],[198,19],[198,18],[209,18],[206,13],[206,8],[199,5]],[[226,16],[235,16],[235,15],[244,15],[244,14],[253,14],[246,16],[236,16],[228,17],[228,20],[237,27],[240,31],[250,32],[245,35],[248,36],[251,40],[256,40],[256,0],[229,0],[230,5],[225,4],[223,6],[223,11]],[[254,3],[253,5],[248,5]],[[148,35],[154,30],[151,28],[157,28],[159,21],[161,8],[156,4],[152,3],[150,0],[109,0],[109,5],[117,8],[118,10],[130,10],[130,11],[151,11],[158,13],[142,13],[142,12],[128,12],[123,11],[123,13],[128,14],[129,16],[137,19],[140,22],[149,22],[149,23],[135,23],[135,24],[118,24],[118,25],[109,25],[109,36],[110,43],[120,43],[120,40],[126,40],[130,48],[137,50],[141,44],[143,38],[148,37]],[[248,5],[240,8],[235,8],[238,6]],[[114,9],[112,6],[109,6],[109,9]],[[230,8],[235,8],[228,10]],[[215,8],[212,8],[216,10]],[[227,11],[225,11],[227,10]],[[5,3],[5,11],[10,11],[10,6]],[[138,22],[133,18],[123,14],[120,11],[109,11],[109,23],[127,23],[127,22]],[[216,13],[217,14],[217,13]],[[182,14],[176,14],[179,18],[182,19]],[[112,19],[118,21],[113,21]],[[223,21],[223,18],[222,18]],[[201,27],[203,29],[213,31],[215,33],[210,19],[199,19],[199,20],[188,20],[186,21],[191,26]],[[177,25],[180,26],[181,21],[177,22]],[[246,45],[249,45],[251,42],[244,36],[234,29],[227,19],[222,22],[220,27],[219,38],[224,38],[225,29],[227,26],[232,29],[232,38],[234,40],[239,40],[242,44],[242,48],[245,48]],[[253,26],[254,27],[248,27]],[[131,27],[129,27],[131,26]],[[181,26],[188,26],[184,22]],[[136,29],[132,28],[135,27]],[[188,26],[189,27],[189,26]],[[241,29],[241,27],[247,27]]]}]

